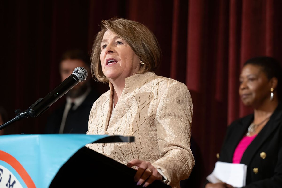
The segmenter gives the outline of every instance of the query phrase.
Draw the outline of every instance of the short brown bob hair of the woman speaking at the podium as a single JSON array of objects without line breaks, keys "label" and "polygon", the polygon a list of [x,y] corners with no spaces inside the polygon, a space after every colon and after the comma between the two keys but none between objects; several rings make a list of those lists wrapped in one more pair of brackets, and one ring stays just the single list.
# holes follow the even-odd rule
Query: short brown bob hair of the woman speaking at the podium
[{"label": "short brown bob hair of the woman speaking at the podium", "polygon": [[133,52],[144,62],[140,64],[138,73],[153,72],[161,61],[162,52],[155,35],[143,24],[123,18],[111,18],[101,21],[101,31],[98,32],[93,43],[91,53],[91,73],[100,82],[109,82],[103,74],[100,54],[104,33],[110,30],[123,39]]}]

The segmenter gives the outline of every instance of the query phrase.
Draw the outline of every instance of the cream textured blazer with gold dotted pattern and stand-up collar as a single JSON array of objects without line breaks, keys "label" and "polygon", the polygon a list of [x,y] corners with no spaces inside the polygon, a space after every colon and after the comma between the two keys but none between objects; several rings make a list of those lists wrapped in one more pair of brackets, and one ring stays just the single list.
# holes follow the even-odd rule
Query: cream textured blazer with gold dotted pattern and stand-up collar
[{"label": "cream textured blazer with gold dotted pattern and stand-up collar", "polygon": [[135,158],[148,161],[162,170],[169,185],[179,187],[194,166],[193,104],[186,85],[152,72],[128,77],[110,120],[113,86],[109,86],[93,104],[87,134],[135,136],[135,142],[86,146],[125,165]]}]

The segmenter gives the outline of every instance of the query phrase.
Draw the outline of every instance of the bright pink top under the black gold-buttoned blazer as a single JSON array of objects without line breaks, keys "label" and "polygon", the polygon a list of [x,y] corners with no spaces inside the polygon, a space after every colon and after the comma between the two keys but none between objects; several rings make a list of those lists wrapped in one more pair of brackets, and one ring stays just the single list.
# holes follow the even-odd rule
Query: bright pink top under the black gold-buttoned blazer
[{"label": "bright pink top under the black gold-buttoned blazer", "polygon": [[250,143],[255,139],[257,134],[253,136],[244,136],[242,140],[237,145],[234,154],[233,154],[233,163],[240,163],[241,158],[247,149],[247,147],[250,145]]}]

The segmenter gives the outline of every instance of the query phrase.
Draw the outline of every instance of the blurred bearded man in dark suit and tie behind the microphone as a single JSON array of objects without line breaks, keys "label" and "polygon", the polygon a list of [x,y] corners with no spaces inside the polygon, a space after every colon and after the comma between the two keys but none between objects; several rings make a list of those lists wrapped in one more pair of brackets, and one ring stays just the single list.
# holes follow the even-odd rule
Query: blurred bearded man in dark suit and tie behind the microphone
[{"label": "blurred bearded man in dark suit and tie behind the microphone", "polygon": [[89,55],[81,50],[65,52],[60,62],[61,80],[69,77],[77,67],[86,68],[89,76],[67,92],[65,104],[49,116],[45,129],[47,134],[86,134],[88,130],[89,113],[99,97],[90,84],[92,77]]}]

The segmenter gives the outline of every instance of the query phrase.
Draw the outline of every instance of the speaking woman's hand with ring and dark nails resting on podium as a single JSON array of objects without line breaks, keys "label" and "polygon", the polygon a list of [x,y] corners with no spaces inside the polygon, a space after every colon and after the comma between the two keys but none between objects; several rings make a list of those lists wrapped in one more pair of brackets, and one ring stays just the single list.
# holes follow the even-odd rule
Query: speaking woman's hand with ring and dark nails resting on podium
[{"label": "speaking woman's hand with ring and dark nails resting on podium", "polygon": [[162,175],[149,162],[133,159],[127,163],[127,167],[133,166],[137,168],[134,176],[134,181],[137,182],[136,185],[142,185],[145,182],[143,187],[147,187],[155,180],[162,180]]}]

